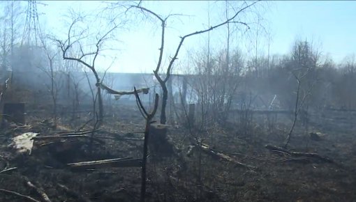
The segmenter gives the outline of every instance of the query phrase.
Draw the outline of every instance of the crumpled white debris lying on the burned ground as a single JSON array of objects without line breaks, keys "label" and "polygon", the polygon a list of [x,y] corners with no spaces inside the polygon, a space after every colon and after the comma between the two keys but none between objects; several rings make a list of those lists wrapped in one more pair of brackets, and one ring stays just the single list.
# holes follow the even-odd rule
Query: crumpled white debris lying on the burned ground
[{"label": "crumpled white debris lying on the burned ground", "polygon": [[13,142],[8,146],[15,148],[18,153],[29,153],[31,155],[32,147],[34,146],[33,138],[37,136],[35,132],[25,132],[17,137],[13,137]]}]

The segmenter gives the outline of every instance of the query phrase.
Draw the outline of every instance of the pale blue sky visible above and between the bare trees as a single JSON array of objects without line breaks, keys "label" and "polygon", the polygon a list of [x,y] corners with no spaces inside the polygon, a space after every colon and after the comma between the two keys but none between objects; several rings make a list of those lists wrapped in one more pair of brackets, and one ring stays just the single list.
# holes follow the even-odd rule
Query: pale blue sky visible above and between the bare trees
[{"label": "pale blue sky visible above and between the bare trees", "polygon": [[[68,27],[61,19],[68,8],[95,10],[101,1],[43,1],[47,6],[38,5],[41,22],[45,21],[47,30],[52,33],[65,33]],[[114,2],[114,1],[112,1]],[[334,61],[339,62],[345,56],[356,52],[356,1],[268,1],[261,7],[265,26],[271,33],[271,54],[288,54],[293,42],[300,38],[313,40],[323,54],[329,54]],[[156,11],[163,16],[169,13],[181,13],[186,16],[174,18],[168,22],[166,36],[167,56],[174,54],[179,42],[179,36],[198,31],[207,27],[207,10],[210,8],[212,22],[221,22],[218,6],[215,1],[144,1],[143,6]],[[221,11],[221,10],[220,10]],[[220,12],[221,13],[221,12]],[[214,18],[214,19],[213,19]],[[160,24],[147,22],[119,31],[117,51],[110,52],[116,56],[112,72],[151,72],[158,60],[160,46]],[[212,43],[219,49],[223,44],[225,29],[212,32]],[[198,50],[206,45],[207,35],[194,36],[185,41],[179,58],[186,56],[187,51]],[[266,38],[261,38],[262,48],[267,49]],[[243,45],[242,45],[243,46]],[[251,44],[244,44],[245,48]],[[244,48],[242,48],[244,49]],[[246,52],[246,54],[254,54]],[[167,58],[165,56],[165,58]],[[110,61],[109,61],[110,60]],[[181,60],[183,62],[183,60]],[[103,59],[103,69],[112,63],[112,59]]]}]

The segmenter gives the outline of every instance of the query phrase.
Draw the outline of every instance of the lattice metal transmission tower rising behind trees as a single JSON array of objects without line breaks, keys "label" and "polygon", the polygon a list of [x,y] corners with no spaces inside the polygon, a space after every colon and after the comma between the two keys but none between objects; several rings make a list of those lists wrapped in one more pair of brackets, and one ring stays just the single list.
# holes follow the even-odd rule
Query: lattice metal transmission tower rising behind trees
[{"label": "lattice metal transmission tower rising behind trees", "polygon": [[40,29],[40,22],[38,20],[37,3],[34,0],[29,0],[27,2],[26,22],[24,25],[21,45],[42,47],[43,33]]}]

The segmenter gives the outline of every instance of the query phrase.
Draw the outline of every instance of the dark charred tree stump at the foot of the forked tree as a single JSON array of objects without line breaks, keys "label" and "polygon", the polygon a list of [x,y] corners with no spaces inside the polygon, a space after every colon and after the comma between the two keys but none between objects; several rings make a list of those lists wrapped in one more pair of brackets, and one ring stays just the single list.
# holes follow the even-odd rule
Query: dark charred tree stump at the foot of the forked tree
[{"label": "dark charred tree stump at the foot of the forked tree", "polygon": [[167,138],[168,128],[161,123],[152,123],[149,127],[149,151],[154,158],[170,157],[174,150]]}]

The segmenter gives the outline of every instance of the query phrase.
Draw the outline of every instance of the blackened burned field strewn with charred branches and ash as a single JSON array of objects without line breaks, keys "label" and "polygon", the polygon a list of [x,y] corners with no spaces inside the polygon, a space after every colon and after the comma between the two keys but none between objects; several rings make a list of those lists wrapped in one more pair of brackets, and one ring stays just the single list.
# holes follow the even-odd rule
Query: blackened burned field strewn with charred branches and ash
[{"label": "blackened burned field strewn with charred branches and ash", "polygon": [[[135,103],[118,101],[117,106],[114,113],[105,117],[94,139],[91,133],[78,132],[91,131],[89,125],[77,130],[65,118],[54,127],[52,119],[29,113],[25,125],[4,125],[0,189],[24,196],[2,192],[1,201],[139,201],[144,119]],[[341,114],[348,114],[348,121],[337,117]],[[258,116],[263,119],[268,115],[251,116],[258,120]],[[297,124],[288,150],[269,146],[281,146],[291,118],[279,114],[273,128],[253,121],[244,132],[246,128],[239,127],[241,117],[230,118],[224,127],[214,125],[205,131],[189,132],[184,125],[165,125],[168,145],[158,148],[171,150],[155,152],[152,148],[157,145],[149,144],[152,148],[147,159],[146,200],[356,199],[352,112],[313,114],[309,131],[315,133],[306,134],[305,127]],[[81,123],[87,120],[84,115],[81,119]],[[343,127],[333,126],[338,122],[343,122]],[[24,132],[38,133],[30,155],[8,146],[13,137]],[[151,137],[154,135],[151,133]],[[202,139],[201,145],[195,142],[196,138]],[[98,160],[111,161],[73,165]]]}]

